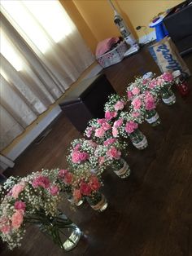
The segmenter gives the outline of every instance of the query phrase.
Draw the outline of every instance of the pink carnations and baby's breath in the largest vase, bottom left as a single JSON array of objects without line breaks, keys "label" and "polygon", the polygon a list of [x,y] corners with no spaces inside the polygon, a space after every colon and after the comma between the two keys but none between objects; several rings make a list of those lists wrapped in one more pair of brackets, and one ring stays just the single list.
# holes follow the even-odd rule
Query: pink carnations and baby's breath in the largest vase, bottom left
[{"label": "pink carnations and baby's breath in the largest vase, bottom left", "polygon": [[0,205],[0,236],[10,249],[20,246],[26,223],[41,223],[43,216],[55,216],[60,201],[55,170],[42,170],[27,177],[10,178],[3,185]]}]

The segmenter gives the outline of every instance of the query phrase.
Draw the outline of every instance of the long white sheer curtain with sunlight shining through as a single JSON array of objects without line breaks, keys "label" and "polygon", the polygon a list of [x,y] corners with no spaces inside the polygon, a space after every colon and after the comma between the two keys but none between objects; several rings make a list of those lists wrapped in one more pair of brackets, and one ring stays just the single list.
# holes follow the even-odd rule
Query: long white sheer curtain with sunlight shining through
[{"label": "long white sheer curtain with sunlight shining through", "polygon": [[0,150],[94,62],[59,1],[1,1]]}]

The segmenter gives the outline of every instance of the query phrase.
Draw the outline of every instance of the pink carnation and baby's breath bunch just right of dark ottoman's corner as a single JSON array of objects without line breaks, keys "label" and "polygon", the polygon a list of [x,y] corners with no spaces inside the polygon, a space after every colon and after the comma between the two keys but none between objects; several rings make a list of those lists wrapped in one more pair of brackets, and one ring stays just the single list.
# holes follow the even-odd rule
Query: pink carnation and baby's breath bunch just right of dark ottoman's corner
[{"label": "pink carnation and baby's breath bunch just right of dark ottoman's corner", "polygon": [[118,117],[125,105],[126,99],[124,97],[120,97],[120,95],[117,94],[110,95],[104,106],[105,118],[107,121]]}]

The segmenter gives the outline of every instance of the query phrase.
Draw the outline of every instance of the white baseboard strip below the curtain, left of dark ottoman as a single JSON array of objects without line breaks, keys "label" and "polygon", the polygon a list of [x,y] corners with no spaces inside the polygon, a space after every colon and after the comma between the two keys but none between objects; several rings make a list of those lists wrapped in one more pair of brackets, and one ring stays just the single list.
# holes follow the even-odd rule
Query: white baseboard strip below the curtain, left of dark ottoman
[{"label": "white baseboard strip below the curtain, left of dark ottoman", "polygon": [[14,148],[11,149],[10,152],[7,153],[8,158],[10,158],[12,161],[14,161],[17,157],[20,156],[22,152],[28,146],[33,143],[34,139],[37,139],[37,137],[41,134],[43,130],[46,129],[47,126],[50,125],[52,121],[55,120],[56,117],[58,117],[59,113],[61,113],[61,108],[59,105],[57,105],[55,108],[53,108],[50,113],[46,115],[38,124],[35,126],[32,130],[28,132],[28,135],[24,137],[24,139],[21,139],[19,143],[15,145]]}]

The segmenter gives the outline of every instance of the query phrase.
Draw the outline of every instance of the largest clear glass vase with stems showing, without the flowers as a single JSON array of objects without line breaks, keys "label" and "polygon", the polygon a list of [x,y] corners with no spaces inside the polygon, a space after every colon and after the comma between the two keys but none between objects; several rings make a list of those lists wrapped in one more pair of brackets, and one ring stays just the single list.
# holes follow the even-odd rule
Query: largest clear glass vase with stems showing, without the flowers
[{"label": "largest clear glass vase with stems showing, without the flowers", "polygon": [[41,218],[37,226],[43,234],[66,251],[76,247],[81,238],[80,228],[62,212],[55,217]]}]

